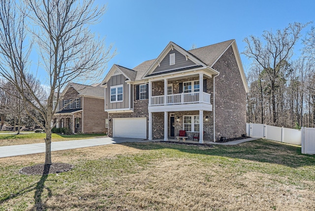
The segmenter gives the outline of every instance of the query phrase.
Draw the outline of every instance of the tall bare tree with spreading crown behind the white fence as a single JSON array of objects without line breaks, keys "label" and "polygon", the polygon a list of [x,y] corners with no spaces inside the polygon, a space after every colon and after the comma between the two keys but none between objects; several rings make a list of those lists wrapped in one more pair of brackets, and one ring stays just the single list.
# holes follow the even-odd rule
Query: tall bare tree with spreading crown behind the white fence
[{"label": "tall bare tree with spreading crown behind the white fence", "polygon": [[277,30],[276,33],[264,31],[262,35],[264,42],[253,35],[244,39],[247,46],[242,53],[267,73],[270,82],[273,124],[276,124],[277,121],[276,81],[293,55],[293,46],[300,38],[301,30],[307,25],[308,23],[293,23],[282,31]]}]

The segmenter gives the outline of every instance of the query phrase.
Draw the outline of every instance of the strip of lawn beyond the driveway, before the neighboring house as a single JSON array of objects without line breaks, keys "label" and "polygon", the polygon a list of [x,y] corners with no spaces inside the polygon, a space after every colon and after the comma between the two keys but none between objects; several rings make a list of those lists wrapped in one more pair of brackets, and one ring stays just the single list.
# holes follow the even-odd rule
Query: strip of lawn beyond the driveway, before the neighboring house
[{"label": "strip of lawn beyond the driveway, before the neighboring house", "polygon": [[[76,135],[61,135],[52,134],[52,141],[70,141],[80,139],[90,139],[104,134],[76,134]],[[28,133],[28,134],[1,134],[0,133],[0,146],[19,145],[28,143],[45,142],[46,134],[44,133]]]}]

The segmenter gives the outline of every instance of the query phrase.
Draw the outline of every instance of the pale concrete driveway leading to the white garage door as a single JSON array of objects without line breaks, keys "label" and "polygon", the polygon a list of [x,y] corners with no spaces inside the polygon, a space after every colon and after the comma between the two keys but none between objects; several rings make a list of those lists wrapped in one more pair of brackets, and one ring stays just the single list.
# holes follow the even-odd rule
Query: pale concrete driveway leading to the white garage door
[{"label": "pale concrete driveway leading to the white garage door", "polygon": [[[100,146],[112,143],[124,143],[124,142],[147,142],[143,139],[130,139],[130,138],[94,138],[85,140],[75,140],[75,141],[58,141],[51,143],[51,150],[58,151],[64,149],[75,149],[83,148],[89,146]],[[23,145],[13,145],[13,146],[0,146],[0,158],[11,157],[17,155],[27,155],[34,153],[45,152],[45,143],[30,143]]]}]

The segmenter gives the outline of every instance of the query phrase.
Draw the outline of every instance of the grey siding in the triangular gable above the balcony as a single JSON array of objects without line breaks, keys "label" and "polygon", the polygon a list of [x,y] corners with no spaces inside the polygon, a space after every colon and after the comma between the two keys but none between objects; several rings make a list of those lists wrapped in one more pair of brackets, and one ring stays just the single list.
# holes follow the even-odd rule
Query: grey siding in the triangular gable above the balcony
[{"label": "grey siding in the triangular gable above the balcony", "polygon": [[[169,65],[169,55],[175,53],[175,65]],[[153,73],[162,72],[166,70],[173,70],[173,69],[181,69],[185,67],[195,66],[196,64],[191,60],[186,61],[186,57],[178,52],[177,50],[171,50],[164,59],[160,62],[159,67],[157,67]]]}]

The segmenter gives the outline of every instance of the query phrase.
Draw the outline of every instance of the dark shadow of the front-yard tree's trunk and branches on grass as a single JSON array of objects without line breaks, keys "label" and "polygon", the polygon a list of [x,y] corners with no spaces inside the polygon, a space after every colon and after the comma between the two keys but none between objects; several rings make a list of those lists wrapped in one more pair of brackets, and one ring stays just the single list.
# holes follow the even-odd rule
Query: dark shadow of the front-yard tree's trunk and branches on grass
[{"label": "dark shadow of the front-yard tree's trunk and branches on grass", "polygon": [[49,174],[49,169],[50,165],[45,165],[44,170],[43,170],[43,175],[40,177],[40,180],[32,185],[30,185],[27,188],[24,188],[20,191],[18,191],[15,194],[10,194],[6,197],[3,197],[0,199],[0,205],[4,203],[7,200],[19,197],[25,193],[31,192],[35,190],[34,193],[34,206],[32,207],[31,210],[36,210],[36,211],[42,211],[45,210],[45,203],[42,201],[42,194],[44,191],[44,188],[48,191],[48,197],[52,196],[52,192],[48,187],[45,187],[44,183],[47,180],[48,174]]}]

